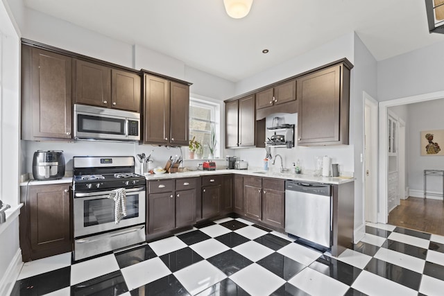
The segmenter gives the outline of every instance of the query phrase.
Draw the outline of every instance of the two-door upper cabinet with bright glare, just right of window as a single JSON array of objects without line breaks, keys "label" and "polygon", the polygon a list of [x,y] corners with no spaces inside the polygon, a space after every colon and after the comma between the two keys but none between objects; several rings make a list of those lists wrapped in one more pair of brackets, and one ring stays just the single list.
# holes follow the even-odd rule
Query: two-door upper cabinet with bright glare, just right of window
[{"label": "two-door upper cabinet with bright glare, just right of window", "polygon": [[225,147],[255,146],[255,95],[225,104]]}]

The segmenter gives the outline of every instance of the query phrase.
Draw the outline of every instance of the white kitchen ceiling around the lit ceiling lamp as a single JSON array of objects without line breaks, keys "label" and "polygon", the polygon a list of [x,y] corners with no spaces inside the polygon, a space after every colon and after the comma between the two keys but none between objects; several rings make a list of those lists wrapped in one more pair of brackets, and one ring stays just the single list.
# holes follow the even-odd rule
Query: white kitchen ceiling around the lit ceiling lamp
[{"label": "white kitchen ceiling around the lit ceiling lamp", "polygon": [[244,19],[228,17],[223,0],[25,3],[233,82],[352,31],[378,61],[444,40],[428,32],[422,0],[254,0]]}]

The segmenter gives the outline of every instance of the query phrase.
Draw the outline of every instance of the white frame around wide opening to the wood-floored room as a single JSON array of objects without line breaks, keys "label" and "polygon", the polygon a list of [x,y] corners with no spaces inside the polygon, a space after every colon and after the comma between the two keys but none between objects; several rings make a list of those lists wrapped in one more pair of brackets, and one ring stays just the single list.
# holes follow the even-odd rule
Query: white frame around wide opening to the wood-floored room
[{"label": "white frame around wide opening to the wood-floored room", "polygon": [[387,166],[388,166],[388,143],[387,143],[387,116],[388,107],[420,103],[444,98],[444,91],[395,98],[389,101],[379,102],[379,194],[378,194],[378,217],[379,223],[386,224],[388,221],[387,212]]}]

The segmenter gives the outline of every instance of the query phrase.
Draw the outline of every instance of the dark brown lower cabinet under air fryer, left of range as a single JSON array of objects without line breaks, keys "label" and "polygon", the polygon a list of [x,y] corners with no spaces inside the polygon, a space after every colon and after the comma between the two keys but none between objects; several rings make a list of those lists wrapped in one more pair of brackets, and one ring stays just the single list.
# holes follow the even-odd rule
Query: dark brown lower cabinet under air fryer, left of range
[{"label": "dark brown lower cabinet under air fryer, left of range", "polygon": [[72,251],[69,186],[23,188],[19,227],[24,262]]}]

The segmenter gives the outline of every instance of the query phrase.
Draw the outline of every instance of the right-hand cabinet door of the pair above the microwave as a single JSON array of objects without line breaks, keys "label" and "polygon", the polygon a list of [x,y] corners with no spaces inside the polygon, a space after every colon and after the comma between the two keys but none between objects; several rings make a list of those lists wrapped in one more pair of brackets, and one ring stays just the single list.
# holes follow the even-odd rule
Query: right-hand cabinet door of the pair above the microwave
[{"label": "right-hand cabinet door of the pair above the microwave", "polygon": [[140,76],[136,73],[112,69],[112,108],[140,112]]}]

